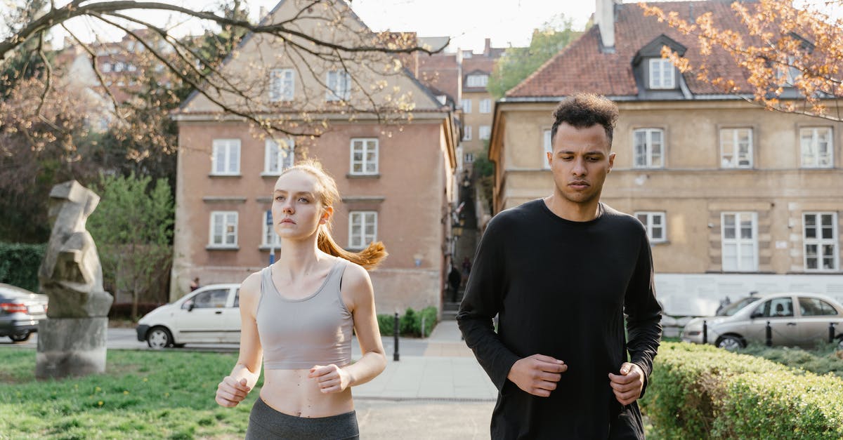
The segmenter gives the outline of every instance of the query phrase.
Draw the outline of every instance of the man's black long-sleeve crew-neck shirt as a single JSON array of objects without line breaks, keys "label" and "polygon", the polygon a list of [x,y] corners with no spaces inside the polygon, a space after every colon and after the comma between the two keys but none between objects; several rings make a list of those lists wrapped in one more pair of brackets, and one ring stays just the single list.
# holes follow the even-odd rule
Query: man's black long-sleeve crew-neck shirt
[{"label": "man's black long-sleeve crew-neck shirt", "polygon": [[[609,373],[619,373],[629,351],[646,387],[661,311],[647,233],[635,217],[601,203],[592,221],[571,222],[542,199],[497,214],[477,249],[457,315],[466,343],[499,391],[491,437],[643,438],[637,405],[618,403]],[[507,379],[513,363],[534,354],[568,366],[550,397],[528,394]]]}]

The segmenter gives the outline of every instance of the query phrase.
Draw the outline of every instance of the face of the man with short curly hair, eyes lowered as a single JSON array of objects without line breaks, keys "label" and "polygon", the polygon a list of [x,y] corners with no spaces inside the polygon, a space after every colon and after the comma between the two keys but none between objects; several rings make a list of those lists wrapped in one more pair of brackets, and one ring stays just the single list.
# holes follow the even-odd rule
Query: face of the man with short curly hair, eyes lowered
[{"label": "face of the man with short curly hair, eyes lowered", "polygon": [[599,124],[576,128],[560,124],[547,163],[556,190],[565,200],[578,205],[597,203],[615,153],[609,152],[609,137]]}]

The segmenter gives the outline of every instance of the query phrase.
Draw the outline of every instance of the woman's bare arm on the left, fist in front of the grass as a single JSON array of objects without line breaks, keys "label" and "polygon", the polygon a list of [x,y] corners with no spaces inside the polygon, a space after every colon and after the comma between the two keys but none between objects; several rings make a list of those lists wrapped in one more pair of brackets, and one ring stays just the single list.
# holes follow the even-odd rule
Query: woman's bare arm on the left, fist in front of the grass
[{"label": "woman's bare arm on the left, fist in front of the grass", "polygon": [[257,313],[260,301],[260,272],[240,284],[240,353],[231,374],[217,385],[217,403],[232,407],[246,398],[260,378],[263,348],[258,338]]}]

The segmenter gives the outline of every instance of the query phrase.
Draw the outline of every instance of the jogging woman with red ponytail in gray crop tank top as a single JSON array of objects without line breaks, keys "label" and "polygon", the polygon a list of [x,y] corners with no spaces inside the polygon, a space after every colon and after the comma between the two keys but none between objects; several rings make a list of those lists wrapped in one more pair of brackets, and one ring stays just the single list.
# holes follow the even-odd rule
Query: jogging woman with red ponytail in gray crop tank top
[{"label": "jogging woman with red ponytail in gray crop tank top", "polygon": [[[217,403],[233,407],[255,386],[260,399],[246,438],[357,438],[351,387],[386,367],[365,268],[386,256],[380,242],[360,253],[330,237],[336,182],[317,162],[278,178],[272,223],[281,237],[278,261],[240,286],[240,354],[217,387]],[[351,363],[352,325],[362,357]]]}]

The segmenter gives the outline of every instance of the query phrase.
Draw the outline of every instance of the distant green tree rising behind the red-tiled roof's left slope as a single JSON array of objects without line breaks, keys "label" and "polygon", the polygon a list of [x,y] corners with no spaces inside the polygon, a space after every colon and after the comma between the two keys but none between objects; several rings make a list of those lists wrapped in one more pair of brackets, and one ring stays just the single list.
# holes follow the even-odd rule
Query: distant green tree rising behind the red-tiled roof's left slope
[{"label": "distant green tree rising behind the red-tiled roof's left slope", "polygon": [[564,15],[559,15],[540,29],[533,30],[529,47],[509,47],[503,52],[489,78],[489,93],[495,99],[502,98],[507,90],[535,72],[580,34],[582,32],[572,30],[572,20],[566,19]]}]

